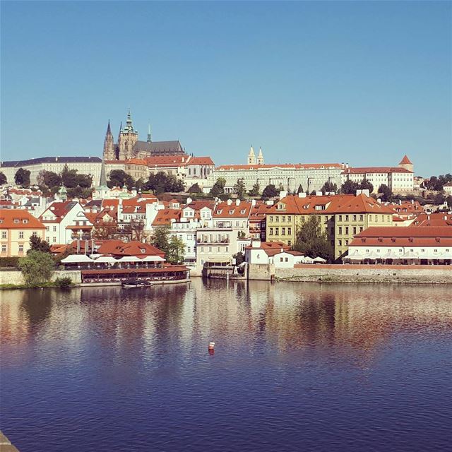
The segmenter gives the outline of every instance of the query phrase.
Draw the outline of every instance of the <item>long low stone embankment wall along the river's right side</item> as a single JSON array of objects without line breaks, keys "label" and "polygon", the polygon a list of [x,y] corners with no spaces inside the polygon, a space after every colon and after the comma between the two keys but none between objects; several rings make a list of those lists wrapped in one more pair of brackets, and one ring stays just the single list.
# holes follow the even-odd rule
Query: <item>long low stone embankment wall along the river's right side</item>
[{"label": "long low stone embankment wall along the river's right side", "polygon": [[[249,266],[249,279],[303,283],[452,284],[452,266],[312,265]],[[261,267],[261,268],[259,268]]]}]

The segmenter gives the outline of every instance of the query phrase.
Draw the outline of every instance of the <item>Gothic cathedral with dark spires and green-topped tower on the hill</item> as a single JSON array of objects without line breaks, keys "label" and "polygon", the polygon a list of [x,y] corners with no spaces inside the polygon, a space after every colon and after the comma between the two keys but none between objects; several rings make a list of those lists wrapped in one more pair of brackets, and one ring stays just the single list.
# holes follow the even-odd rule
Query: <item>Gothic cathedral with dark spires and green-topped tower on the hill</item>
[{"label": "Gothic cathedral with dark spires and green-topped tower on the hill", "polygon": [[148,139],[138,140],[138,131],[133,129],[132,117],[127,113],[126,126],[122,123],[119,128],[117,143],[114,143],[110,121],[108,121],[107,133],[104,140],[104,160],[128,160],[130,158],[155,157],[156,155],[185,155],[179,141],[152,141],[150,136],[150,126]]}]

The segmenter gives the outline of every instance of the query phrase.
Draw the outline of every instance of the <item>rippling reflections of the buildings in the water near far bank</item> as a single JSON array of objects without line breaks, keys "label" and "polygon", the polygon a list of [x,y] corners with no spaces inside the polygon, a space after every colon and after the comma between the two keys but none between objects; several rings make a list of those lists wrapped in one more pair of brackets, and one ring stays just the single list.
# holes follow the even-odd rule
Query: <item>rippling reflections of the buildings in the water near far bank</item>
[{"label": "rippling reflections of the buildings in the water near far bank", "polygon": [[[209,340],[232,354],[314,350],[367,362],[393,333],[452,328],[452,295],[445,285],[317,285],[201,280],[189,286],[123,290],[1,293],[1,342],[11,353],[107,356],[114,369],[172,355],[178,367]],[[436,331],[436,330],[435,330]],[[87,345],[88,344],[88,345]],[[202,349],[204,350],[204,349]],[[15,353],[15,355],[19,355]],[[160,361],[159,361],[160,362]],[[125,370],[124,370],[125,371]],[[108,378],[121,379],[121,373]]]}]

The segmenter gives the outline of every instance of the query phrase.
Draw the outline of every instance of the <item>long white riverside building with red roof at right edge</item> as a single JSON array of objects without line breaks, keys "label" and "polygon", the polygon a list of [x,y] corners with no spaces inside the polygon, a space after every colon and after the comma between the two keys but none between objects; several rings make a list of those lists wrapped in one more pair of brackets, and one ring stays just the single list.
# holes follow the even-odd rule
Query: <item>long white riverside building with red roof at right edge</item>
[{"label": "long white riverside building with red roof at right edge", "polygon": [[452,263],[452,227],[369,227],[350,243],[345,263]]}]

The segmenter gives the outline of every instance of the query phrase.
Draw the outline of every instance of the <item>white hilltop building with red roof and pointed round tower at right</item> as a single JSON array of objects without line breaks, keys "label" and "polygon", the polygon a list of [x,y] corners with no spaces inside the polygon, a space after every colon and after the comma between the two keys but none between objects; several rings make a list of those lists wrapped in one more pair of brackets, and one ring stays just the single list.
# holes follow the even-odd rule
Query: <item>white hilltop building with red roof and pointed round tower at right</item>
[{"label": "white hilltop building with red roof and pointed round tower at right", "polygon": [[409,193],[414,190],[412,162],[405,155],[397,167],[347,167],[341,174],[341,184],[347,180],[360,183],[366,179],[374,186],[376,193],[381,184],[393,193]]}]

